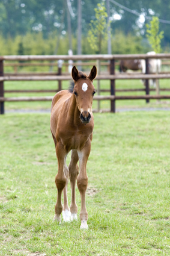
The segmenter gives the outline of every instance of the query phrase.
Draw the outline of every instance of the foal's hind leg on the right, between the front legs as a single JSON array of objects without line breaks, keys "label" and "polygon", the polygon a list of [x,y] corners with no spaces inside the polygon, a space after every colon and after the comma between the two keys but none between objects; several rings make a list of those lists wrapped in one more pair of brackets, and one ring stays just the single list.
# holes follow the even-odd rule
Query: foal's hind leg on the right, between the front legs
[{"label": "foal's hind leg on the right, between the front legs", "polygon": [[77,161],[79,161],[79,156],[77,154],[77,151],[76,149],[72,149],[71,161],[68,166],[70,183],[71,183],[71,205],[70,205],[71,220],[74,220],[74,219],[77,220],[77,205],[76,205],[76,190],[75,190],[77,175],[79,173],[79,166],[77,164]]}]

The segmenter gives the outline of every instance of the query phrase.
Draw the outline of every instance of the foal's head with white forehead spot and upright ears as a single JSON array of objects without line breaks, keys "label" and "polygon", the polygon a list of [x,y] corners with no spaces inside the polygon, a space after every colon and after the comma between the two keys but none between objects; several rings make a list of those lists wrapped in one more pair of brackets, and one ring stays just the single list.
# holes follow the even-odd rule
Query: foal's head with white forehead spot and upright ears
[{"label": "foal's head with white forehead spot and upright ears", "polygon": [[89,123],[91,120],[90,113],[92,111],[93,96],[96,93],[93,86],[93,80],[97,75],[96,66],[93,66],[88,76],[78,71],[74,66],[71,75],[74,80],[73,96],[76,98],[77,107],[80,111],[80,119],[83,123]]}]

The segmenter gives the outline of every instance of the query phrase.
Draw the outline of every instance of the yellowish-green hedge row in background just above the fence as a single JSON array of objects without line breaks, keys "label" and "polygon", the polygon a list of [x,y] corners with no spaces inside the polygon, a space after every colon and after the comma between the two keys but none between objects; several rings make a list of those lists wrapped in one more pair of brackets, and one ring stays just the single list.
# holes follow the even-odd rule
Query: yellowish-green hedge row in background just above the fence
[{"label": "yellowish-green hedge row in background just above the fence", "polygon": [[[55,34],[50,35],[47,39],[43,37],[43,33],[27,33],[25,36],[16,36],[11,39],[10,36],[4,39],[0,35],[0,55],[50,55],[53,54],[56,47],[57,37]],[[22,45],[20,43],[22,42]],[[72,37],[73,54],[77,52],[76,37]],[[150,50],[147,42],[142,42],[142,37],[125,35],[123,31],[115,31],[112,37],[112,53],[113,54],[137,54],[145,53]],[[101,53],[107,52],[106,40],[103,40]],[[69,42],[67,36],[61,36],[58,46],[58,54],[68,54]],[[87,37],[82,36],[82,54],[94,54],[96,51],[90,47]]]}]

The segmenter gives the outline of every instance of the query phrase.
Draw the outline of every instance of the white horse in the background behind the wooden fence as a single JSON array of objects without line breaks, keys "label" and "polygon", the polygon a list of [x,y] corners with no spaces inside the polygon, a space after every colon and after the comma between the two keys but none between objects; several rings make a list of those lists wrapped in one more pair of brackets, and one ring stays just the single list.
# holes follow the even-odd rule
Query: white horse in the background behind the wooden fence
[{"label": "white horse in the background behind the wooden fence", "polygon": [[[155,55],[156,52],[147,52],[148,55]],[[162,61],[156,58],[149,59],[149,73],[160,73]],[[142,73],[146,72],[145,60],[141,60]],[[156,79],[149,80],[150,86],[156,88]]]}]

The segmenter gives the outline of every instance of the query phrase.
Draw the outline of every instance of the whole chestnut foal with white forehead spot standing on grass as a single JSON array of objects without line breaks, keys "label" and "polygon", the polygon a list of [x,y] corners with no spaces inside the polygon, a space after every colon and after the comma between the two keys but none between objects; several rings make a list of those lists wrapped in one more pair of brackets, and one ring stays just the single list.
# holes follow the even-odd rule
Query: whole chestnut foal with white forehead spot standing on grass
[{"label": "whole chestnut foal with white forehead spot standing on grass", "polygon": [[[88,228],[88,213],[85,205],[85,193],[88,185],[87,160],[91,150],[91,140],[94,128],[92,113],[93,96],[96,90],[93,80],[97,69],[93,66],[90,75],[79,72],[74,66],[71,75],[74,85],[70,90],[56,93],[52,100],[50,130],[55,143],[58,159],[58,173],[55,184],[58,190],[55,205],[54,220],[61,222],[61,212],[64,221],[77,219],[77,205],[75,186],[80,192],[80,228]],[[67,167],[66,158],[71,151],[70,164]],[[77,162],[79,161],[79,167]],[[80,171],[79,171],[80,169]],[[68,176],[71,183],[71,205],[68,207],[67,184]],[[64,207],[62,209],[61,194],[64,193]]]}]

